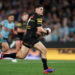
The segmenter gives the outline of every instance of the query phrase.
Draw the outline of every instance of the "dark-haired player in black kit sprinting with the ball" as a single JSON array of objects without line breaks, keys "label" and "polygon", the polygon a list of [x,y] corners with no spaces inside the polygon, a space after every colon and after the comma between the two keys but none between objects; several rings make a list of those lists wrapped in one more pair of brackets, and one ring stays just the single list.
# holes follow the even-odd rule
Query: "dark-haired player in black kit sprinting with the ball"
[{"label": "dark-haired player in black kit sprinting with the ball", "polygon": [[27,32],[23,39],[23,45],[21,47],[21,50],[17,54],[7,54],[3,57],[12,57],[12,58],[25,58],[29,52],[29,49],[32,47],[35,47],[37,50],[41,52],[41,60],[44,67],[44,73],[51,73],[54,72],[55,69],[50,69],[47,66],[47,49],[42,44],[42,42],[39,41],[39,37],[41,36],[41,33],[49,34],[49,30],[45,30],[42,27],[42,16],[43,16],[44,8],[42,5],[37,5],[35,7],[35,13],[30,16],[28,23],[27,23]]}]

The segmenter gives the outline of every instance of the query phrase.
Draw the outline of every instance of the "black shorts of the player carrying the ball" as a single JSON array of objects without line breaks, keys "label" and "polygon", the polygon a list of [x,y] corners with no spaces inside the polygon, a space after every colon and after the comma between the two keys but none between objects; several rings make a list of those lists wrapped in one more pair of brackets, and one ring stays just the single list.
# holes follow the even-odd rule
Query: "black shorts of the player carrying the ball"
[{"label": "black shorts of the player carrying the ball", "polygon": [[36,38],[24,39],[23,45],[28,48],[32,48],[34,46],[34,44],[36,44],[37,42],[39,42],[39,40],[37,40]]}]

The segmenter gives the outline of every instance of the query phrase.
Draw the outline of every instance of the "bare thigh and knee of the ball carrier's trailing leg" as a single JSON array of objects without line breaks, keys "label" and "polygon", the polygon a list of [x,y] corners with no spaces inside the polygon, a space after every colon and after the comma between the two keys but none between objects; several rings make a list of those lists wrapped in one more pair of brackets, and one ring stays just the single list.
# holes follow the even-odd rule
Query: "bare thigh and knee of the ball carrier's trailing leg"
[{"label": "bare thigh and knee of the ball carrier's trailing leg", "polygon": [[17,52],[16,57],[20,59],[24,59],[29,52],[29,48],[22,45],[21,50]]}]

